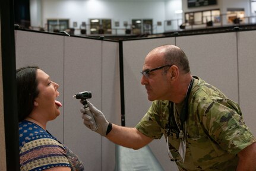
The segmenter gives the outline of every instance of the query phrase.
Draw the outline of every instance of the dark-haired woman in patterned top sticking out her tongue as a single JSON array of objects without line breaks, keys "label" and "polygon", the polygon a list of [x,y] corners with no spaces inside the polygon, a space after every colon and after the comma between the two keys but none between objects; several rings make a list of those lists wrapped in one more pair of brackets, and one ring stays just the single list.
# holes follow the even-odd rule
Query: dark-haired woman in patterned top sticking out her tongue
[{"label": "dark-haired woman in patterned top sticking out her tongue", "polygon": [[60,115],[59,85],[37,66],[16,71],[20,170],[84,170],[83,163],[46,130]]}]

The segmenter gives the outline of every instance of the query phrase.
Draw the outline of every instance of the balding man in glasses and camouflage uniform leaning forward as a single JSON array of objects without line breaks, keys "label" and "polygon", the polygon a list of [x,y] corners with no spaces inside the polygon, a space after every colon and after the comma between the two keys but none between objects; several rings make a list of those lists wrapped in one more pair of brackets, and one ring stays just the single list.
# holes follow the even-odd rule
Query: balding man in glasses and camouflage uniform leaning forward
[{"label": "balding man in glasses and camouflage uniform leaning forward", "polygon": [[[111,124],[89,103],[97,133],[134,149],[165,135],[170,159],[179,170],[256,170],[256,139],[238,104],[192,77],[187,56],[179,47],[153,49],[141,73],[141,84],[153,101],[146,115],[135,128],[127,128]],[[90,116],[83,119],[90,128]]]}]

